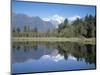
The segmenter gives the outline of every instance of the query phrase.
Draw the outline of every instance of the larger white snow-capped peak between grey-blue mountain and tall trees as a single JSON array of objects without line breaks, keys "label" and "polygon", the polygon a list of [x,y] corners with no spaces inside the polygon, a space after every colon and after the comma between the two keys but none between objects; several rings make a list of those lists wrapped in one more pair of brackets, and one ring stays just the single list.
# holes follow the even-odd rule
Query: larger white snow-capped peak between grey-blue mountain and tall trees
[{"label": "larger white snow-capped peak between grey-blue mountain and tall trees", "polygon": [[48,18],[43,18],[44,21],[50,21],[56,28],[58,28],[58,24],[64,21],[64,17],[55,14],[53,16],[49,16]]}]

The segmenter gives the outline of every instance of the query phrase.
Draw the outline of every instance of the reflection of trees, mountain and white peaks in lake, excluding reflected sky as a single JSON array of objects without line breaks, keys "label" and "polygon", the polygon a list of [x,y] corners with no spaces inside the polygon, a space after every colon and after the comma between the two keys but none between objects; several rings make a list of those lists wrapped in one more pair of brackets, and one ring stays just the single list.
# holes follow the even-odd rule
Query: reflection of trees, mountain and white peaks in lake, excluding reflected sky
[{"label": "reflection of trees, mountain and white peaks in lake, excluding reflected sky", "polygon": [[96,64],[95,50],[95,45],[80,43],[13,42],[12,63],[22,63],[30,59],[52,59],[55,62],[71,59]]}]

